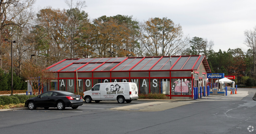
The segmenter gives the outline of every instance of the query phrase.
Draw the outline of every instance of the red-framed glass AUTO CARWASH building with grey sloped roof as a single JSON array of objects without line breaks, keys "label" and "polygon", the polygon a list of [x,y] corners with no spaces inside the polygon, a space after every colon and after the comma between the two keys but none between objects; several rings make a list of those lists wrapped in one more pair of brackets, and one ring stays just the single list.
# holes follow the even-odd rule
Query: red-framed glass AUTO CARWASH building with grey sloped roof
[{"label": "red-framed glass AUTO CARWASH building with grey sloped roof", "polygon": [[201,55],[64,59],[47,69],[56,80],[44,91],[74,93],[78,87],[81,93],[97,83],[135,82],[139,94],[162,93],[170,99],[193,98],[193,87],[205,86],[211,73]]}]

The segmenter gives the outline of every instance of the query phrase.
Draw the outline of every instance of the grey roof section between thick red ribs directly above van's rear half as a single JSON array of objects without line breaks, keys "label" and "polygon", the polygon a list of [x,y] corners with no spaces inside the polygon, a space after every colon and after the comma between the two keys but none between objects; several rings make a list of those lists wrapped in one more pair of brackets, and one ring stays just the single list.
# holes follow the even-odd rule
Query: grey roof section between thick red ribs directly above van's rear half
[{"label": "grey roof section between thick red ribs directly above van's rear half", "polygon": [[128,58],[123,63],[118,65],[116,68],[114,68],[114,71],[124,71],[129,70],[132,68],[135,64],[137,64],[142,58]]}]

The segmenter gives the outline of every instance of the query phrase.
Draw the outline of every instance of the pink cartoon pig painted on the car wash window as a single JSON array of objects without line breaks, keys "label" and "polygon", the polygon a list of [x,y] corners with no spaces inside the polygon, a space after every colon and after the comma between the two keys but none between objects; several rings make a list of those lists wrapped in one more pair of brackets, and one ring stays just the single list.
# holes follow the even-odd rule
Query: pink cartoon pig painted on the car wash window
[{"label": "pink cartoon pig painted on the car wash window", "polygon": [[189,90],[191,90],[191,86],[190,86],[190,82],[189,81],[183,81],[183,80],[179,80],[179,81],[175,81],[174,83],[176,83],[176,86],[172,85],[172,91],[174,91],[174,94],[185,94],[188,95],[189,94]]}]

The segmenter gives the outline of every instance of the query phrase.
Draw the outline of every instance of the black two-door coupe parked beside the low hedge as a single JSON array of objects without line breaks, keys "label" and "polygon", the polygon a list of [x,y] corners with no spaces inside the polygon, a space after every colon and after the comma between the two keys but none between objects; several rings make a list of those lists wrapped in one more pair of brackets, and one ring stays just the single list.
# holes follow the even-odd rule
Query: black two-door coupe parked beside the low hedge
[{"label": "black two-door coupe parked beside the low hedge", "polygon": [[82,104],[83,99],[80,95],[67,91],[47,91],[28,99],[25,102],[25,107],[28,107],[30,110],[34,110],[35,108],[48,109],[50,107],[57,107],[58,110],[63,110],[65,107],[76,109]]}]

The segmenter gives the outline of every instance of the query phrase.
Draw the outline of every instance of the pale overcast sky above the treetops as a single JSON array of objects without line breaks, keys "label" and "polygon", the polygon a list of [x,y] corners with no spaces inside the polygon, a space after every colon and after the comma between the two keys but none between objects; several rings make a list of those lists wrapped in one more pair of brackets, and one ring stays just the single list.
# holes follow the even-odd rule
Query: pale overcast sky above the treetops
[{"label": "pale overcast sky above the treetops", "polygon": [[[167,17],[190,38],[213,40],[215,52],[228,48],[246,52],[244,31],[256,25],[256,0],[86,0],[86,5],[91,20],[103,15],[132,15],[140,22]],[[35,7],[47,6],[69,9],[64,0],[36,1]]]}]

